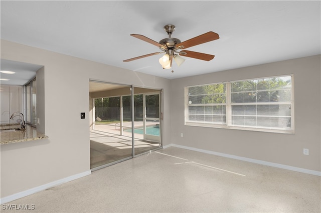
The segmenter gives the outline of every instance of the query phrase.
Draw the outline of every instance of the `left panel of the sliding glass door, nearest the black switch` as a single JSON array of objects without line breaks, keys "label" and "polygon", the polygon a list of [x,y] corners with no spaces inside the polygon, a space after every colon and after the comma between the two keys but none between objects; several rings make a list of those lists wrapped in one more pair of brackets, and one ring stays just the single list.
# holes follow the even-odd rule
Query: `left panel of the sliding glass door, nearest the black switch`
[{"label": "left panel of the sliding glass door, nearest the black switch", "polygon": [[124,132],[132,126],[132,86],[90,82],[90,88],[90,168],[96,170],[133,157],[132,132]]}]

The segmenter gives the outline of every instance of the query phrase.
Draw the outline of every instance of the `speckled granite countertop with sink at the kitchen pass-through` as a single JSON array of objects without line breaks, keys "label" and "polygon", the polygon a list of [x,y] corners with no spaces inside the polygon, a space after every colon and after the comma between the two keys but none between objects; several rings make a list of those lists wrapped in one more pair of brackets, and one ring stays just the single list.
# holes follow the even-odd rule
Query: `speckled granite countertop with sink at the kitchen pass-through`
[{"label": "speckled granite countertop with sink at the kitchen pass-through", "polygon": [[[17,124],[1,124],[1,129],[13,129],[19,128],[20,125]],[[31,125],[26,125],[26,129],[17,130],[17,131],[2,131],[0,136],[0,144],[24,142],[30,140],[39,140],[48,138],[44,133],[38,132],[37,128],[32,127]]]}]

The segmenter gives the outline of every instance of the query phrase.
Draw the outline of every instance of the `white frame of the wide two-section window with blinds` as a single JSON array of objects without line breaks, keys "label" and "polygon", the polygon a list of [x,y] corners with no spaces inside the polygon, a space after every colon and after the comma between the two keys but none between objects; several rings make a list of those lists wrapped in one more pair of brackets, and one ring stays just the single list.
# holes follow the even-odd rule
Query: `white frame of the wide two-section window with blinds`
[{"label": "white frame of the wide two-section window with blinds", "polygon": [[[263,126],[235,126],[232,125],[232,105],[237,105],[231,102],[231,84],[233,82],[242,82],[247,80],[259,80],[259,79],[267,79],[267,78],[276,78],[276,77],[285,77],[289,76],[291,79],[291,99],[287,103],[290,104],[290,122],[291,127],[289,129],[279,129],[273,127],[263,127]],[[213,84],[226,84],[226,122],[225,123],[212,123],[212,122],[205,122],[205,121],[194,121],[189,120],[189,94],[188,89],[190,87],[196,86],[204,86],[204,85],[213,85]],[[262,102],[268,103],[269,105],[273,105],[270,102]],[[285,104],[281,102],[282,104]],[[256,104],[256,103],[255,103]],[[277,103],[275,103],[277,104]],[[206,104],[198,104],[198,105],[206,105]],[[258,104],[260,105],[260,104]],[[226,81],[226,82],[215,82],[215,83],[207,83],[207,84],[198,84],[198,85],[189,85],[185,86],[185,94],[184,94],[184,106],[185,106],[185,125],[188,126],[201,126],[201,127],[214,127],[214,128],[225,128],[225,129],[239,129],[239,130],[250,130],[250,131],[264,131],[264,132],[276,132],[276,133],[287,133],[287,134],[294,134],[294,76],[293,74],[283,74],[283,75],[276,75],[276,76],[266,76],[266,77],[257,77],[257,78],[249,78],[249,79],[241,79],[241,80],[233,80],[233,81]]]}]

